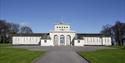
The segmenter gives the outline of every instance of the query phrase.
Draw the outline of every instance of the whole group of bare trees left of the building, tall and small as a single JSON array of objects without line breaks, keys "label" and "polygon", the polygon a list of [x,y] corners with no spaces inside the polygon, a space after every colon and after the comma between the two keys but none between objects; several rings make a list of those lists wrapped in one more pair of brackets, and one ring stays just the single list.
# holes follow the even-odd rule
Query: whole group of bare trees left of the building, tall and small
[{"label": "whole group of bare trees left of the building, tall and small", "polygon": [[32,29],[28,26],[22,27],[16,23],[0,20],[0,43],[11,42],[11,37],[17,33],[32,33]]}]

